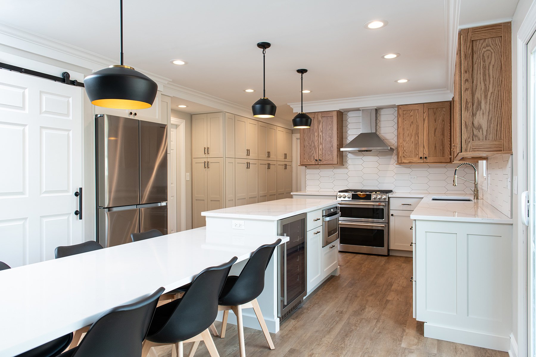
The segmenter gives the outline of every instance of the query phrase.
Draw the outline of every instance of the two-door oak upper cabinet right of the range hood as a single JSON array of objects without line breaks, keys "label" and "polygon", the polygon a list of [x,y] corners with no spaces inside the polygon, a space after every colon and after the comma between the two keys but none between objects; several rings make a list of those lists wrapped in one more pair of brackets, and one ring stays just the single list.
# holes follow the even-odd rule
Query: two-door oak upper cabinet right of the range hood
[{"label": "two-door oak upper cabinet right of the range hood", "polygon": [[398,106],[398,163],[448,163],[451,102]]}]

